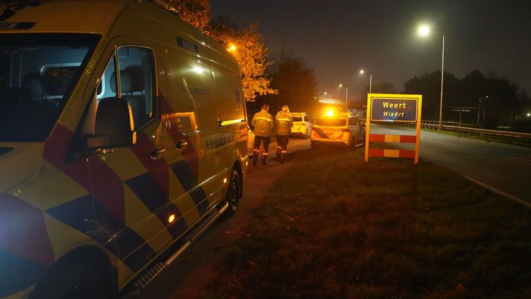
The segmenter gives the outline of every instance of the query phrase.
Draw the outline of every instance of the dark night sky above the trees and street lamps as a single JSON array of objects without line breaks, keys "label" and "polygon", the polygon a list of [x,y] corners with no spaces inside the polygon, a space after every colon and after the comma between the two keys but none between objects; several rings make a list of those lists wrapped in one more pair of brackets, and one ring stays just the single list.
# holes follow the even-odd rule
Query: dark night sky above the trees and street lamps
[{"label": "dark night sky above the trees and street lamps", "polygon": [[[494,71],[531,93],[530,0],[317,1],[210,0],[211,17],[230,15],[239,26],[259,21],[270,54],[303,58],[317,76],[317,91],[361,100],[362,84],[404,82],[440,71],[442,35],[418,37],[418,24],[445,35],[445,71],[463,78]],[[365,75],[360,75],[360,69]]]}]

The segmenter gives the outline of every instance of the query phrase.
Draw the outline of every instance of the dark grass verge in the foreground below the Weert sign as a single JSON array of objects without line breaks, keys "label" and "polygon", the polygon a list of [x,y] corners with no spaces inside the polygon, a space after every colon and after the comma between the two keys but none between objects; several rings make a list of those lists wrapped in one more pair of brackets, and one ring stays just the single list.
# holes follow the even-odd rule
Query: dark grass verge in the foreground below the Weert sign
[{"label": "dark grass verge in the foreground below the Weert sign", "polygon": [[531,298],[531,210],[444,168],[307,152],[203,298]]}]

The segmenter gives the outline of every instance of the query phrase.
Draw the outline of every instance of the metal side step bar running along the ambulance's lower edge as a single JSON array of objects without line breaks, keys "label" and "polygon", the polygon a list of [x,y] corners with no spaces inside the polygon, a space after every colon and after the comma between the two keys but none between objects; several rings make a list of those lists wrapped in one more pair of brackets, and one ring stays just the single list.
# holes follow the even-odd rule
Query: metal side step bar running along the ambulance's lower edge
[{"label": "metal side step bar running along the ambulance's lower edge", "polygon": [[[140,276],[140,278],[138,278],[135,282],[133,282],[133,284],[131,284],[132,289],[135,291],[133,291],[133,293],[130,293],[129,295],[136,295],[138,292],[140,292],[141,289],[144,289],[147,284],[149,284],[149,282],[151,282],[151,280],[153,280],[153,278],[155,278],[156,275],[158,275],[158,273],[162,271],[162,269],[165,269],[166,266],[171,264],[171,262],[174,262],[177,257],[183,254],[186,249],[189,248],[189,246],[192,246],[192,244],[196,242],[197,239],[201,235],[203,235],[203,233],[205,233],[207,228],[209,228],[209,226],[211,226],[214,221],[216,221],[223,214],[223,212],[227,210],[227,208],[229,208],[229,203],[225,202],[223,206],[219,208],[219,210],[214,210],[210,212],[210,214],[205,217],[205,219],[203,219],[201,223],[199,223],[193,230],[191,230],[189,233],[187,233],[187,235],[185,235],[185,237],[183,237],[183,239],[185,240],[184,244],[181,245],[177,249],[177,251],[175,251],[174,254],[172,254],[165,262],[157,262],[153,264],[149,269],[147,269],[147,271],[145,271]],[[129,295],[125,296],[124,298],[129,298]]]}]

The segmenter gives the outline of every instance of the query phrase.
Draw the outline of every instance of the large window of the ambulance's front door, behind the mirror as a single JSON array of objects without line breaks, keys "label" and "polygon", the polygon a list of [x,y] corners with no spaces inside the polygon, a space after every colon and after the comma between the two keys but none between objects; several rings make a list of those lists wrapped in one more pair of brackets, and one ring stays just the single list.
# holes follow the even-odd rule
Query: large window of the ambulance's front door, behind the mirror
[{"label": "large window of the ambulance's front door, behind the mirror", "polygon": [[149,48],[139,46],[118,48],[121,96],[131,105],[135,129],[153,118],[155,106],[153,101],[156,98],[153,61],[153,52]]}]

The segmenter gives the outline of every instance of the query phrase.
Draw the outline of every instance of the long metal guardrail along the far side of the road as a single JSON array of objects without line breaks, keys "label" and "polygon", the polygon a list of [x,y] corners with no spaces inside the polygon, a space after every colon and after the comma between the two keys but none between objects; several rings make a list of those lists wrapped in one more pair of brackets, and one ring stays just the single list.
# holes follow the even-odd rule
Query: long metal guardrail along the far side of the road
[{"label": "long metal guardrail along the far side of the road", "polygon": [[[415,127],[416,124],[410,123],[386,123],[389,125],[400,125],[406,127]],[[439,122],[431,120],[422,120],[420,123],[422,129],[438,130]],[[443,131],[454,132],[463,136],[474,136],[487,141],[501,141],[507,143],[518,143],[520,145],[531,146],[531,134],[520,132],[507,132],[490,129],[476,129],[470,127],[460,127],[460,123],[443,122]]]}]

